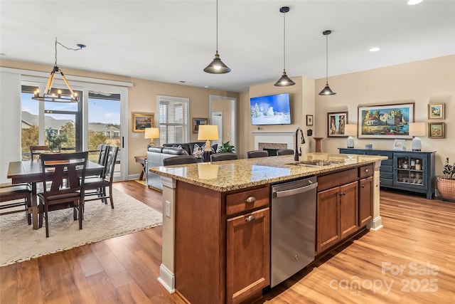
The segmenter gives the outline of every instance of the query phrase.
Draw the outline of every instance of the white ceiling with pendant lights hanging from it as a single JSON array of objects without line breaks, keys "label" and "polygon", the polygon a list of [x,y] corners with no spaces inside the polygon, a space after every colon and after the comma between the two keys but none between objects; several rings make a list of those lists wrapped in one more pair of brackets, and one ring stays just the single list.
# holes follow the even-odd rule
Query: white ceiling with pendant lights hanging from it
[{"label": "white ceiling with pendant lights hanging from it", "polygon": [[[234,92],[292,76],[326,77],[455,53],[455,1],[219,0],[218,51],[232,72],[203,72],[215,54],[216,1],[0,1],[2,59]],[[379,52],[371,53],[378,46]],[[454,67],[455,68],[455,67]],[[330,83],[330,79],[329,79]]]}]

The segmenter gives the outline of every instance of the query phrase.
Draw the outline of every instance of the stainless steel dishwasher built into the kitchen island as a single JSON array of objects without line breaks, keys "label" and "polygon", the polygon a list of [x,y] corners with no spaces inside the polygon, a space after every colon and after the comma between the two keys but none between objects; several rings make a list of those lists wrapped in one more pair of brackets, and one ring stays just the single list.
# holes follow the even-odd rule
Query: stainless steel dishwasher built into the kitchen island
[{"label": "stainless steel dishwasher built into the kitchen island", "polygon": [[272,186],[271,287],[314,261],[316,181],[309,177]]}]

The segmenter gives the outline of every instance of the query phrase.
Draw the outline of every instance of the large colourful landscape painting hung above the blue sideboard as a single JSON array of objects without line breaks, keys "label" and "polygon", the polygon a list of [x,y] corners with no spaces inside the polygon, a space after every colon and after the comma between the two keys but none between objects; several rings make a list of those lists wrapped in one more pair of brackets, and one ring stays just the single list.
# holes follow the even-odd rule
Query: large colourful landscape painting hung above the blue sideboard
[{"label": "large colourful landscape painting hung above the blue sideboard", "polygon": [[414,103],[358,107],[358,138],[410,139]]}]

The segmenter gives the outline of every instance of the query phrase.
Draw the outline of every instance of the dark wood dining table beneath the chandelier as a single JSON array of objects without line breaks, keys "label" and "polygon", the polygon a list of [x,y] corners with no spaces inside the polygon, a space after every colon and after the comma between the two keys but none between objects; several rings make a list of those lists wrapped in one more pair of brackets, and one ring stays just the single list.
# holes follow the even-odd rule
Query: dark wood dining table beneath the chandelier
[{"label": "dark wood dining table beneath the chandelier", "polygon": [[[102,174],[105,166],[97,162],[87,161],[87,169],[85,169],[85,176]],[[31,214],[33,229],[38,229],[38,198],[36,184],[44,182],[45,180],[52,179],[53,172],[48,172],[47,176],[43,178],[43,169],[41,169],[41,162],[33,162],[30,160],[23,160],[17,162],[9,162],[8,178],[11,179],[12,184],[31,184]]]}]

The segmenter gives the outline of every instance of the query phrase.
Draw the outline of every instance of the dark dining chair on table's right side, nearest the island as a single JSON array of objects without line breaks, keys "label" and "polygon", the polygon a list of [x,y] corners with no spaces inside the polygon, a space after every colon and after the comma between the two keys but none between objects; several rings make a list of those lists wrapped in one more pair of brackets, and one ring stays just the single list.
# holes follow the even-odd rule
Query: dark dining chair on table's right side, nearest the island
[{"label": "dark dining chair on table's right side, nearest the island", "polygon": [[[105,169],[101,177],[90,177],[84,181],[85,196],[97,196],[91,199],[85,199],[85,201],[95,201],[101,199],[101,201],[107,204],[107,199],[111,203],[112,209],[114,209],[114,199],[112,198],[112,182],[114,182],[114,169],[117,162],[117,154],[119,147],[108,146],[106,150]],[[106,188],[109,188],[109,193],[106,192]]]}]

